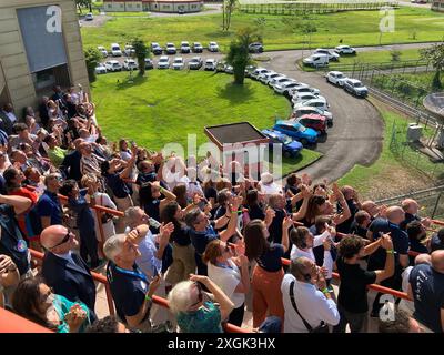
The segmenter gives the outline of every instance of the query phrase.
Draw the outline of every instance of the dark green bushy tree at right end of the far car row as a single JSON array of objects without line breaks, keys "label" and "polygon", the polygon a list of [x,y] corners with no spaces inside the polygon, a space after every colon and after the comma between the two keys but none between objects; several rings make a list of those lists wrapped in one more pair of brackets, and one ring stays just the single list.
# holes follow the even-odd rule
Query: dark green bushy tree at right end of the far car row
[{"label": "dark green bushy tree at right end of the far car row", "polygon": [[261,42],[262,39],[255,29],[243,28],[239,30],[234,40],[230,43],[230,50],[225,61],[233,67],[234,83],[243,85],[245,67],[251,63],[249,45],[253,42]]}]

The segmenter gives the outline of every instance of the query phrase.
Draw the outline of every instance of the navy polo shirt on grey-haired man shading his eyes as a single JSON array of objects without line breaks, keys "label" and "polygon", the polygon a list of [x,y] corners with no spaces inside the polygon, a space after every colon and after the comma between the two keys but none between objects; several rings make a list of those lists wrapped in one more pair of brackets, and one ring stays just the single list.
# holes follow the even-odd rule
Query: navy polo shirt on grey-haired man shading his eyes
[{"label": "navy polo shirt on grey-haired man shading his eyes", "polygon": [[127,323],[125,316],[134,316],[139,313],[150,283],[135,264],[131,272],[129,270],[121,270],[114,263],[109,262],[107,278],[111,287],[117,313]]}]

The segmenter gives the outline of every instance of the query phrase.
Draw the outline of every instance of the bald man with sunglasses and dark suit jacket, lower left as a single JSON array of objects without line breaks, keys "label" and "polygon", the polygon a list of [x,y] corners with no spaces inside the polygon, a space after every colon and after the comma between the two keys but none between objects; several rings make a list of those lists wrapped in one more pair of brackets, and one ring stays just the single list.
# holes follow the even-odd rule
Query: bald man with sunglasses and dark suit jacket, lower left
[{"label": "bald man with sunglasses and dark suit jacket, lower left", "polygon": [[85,262],[72,252],[79,242],[63,225],[51,225],[40,234],[44,253],[42,275],[56,294],[83,302],[92,312],[95,305],[95,285]]}]

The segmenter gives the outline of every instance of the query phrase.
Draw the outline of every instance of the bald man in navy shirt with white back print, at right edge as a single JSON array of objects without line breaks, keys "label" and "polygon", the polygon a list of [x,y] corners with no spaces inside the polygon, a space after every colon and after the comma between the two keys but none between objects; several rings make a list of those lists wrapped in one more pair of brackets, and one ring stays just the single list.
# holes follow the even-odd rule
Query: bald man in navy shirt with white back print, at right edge
[{"label": "bald man in navy shirt with white back print, at right edge", "polygon": [[444,251],[431,255],[432,265],[413,267],[408,295],[415,304],[413,317],[435,333],[444,333]]}]

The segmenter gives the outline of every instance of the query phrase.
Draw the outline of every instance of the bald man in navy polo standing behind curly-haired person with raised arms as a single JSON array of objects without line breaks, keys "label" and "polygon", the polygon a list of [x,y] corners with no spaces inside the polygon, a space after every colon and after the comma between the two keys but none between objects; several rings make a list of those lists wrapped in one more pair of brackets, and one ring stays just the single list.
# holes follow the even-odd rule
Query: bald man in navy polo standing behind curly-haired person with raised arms
[{"label": "bald man in navy polo standing behind curly-haired person with raised arms", "polygon": [[[369,226],[367,237],[375,241],[381,233],[390,233],[393,241],[393,252],[395,255],[395,273],[392,277],[384,280],[381,285],[401,291],[403,268],[408,266],[408,235],[400,227],[400,223],[405,220],[405,213],[400,206],[391,206],[385,211],[385,219],[375,219]],[[386,252],[380,247],[370,255],[367,270],[381,270],[385,264]],[[373,302],[371,316],[377,317],[382,304],[379,293]]]}]

